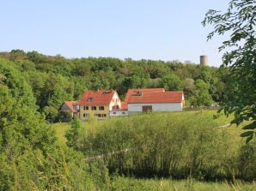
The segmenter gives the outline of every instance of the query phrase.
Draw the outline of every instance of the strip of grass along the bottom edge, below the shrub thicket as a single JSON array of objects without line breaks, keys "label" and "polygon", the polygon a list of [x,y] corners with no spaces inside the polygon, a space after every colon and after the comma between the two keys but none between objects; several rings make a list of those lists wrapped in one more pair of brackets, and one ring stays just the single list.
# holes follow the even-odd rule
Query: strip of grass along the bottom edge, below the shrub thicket
[{"label": "strip of grass along the bottom edge, below the shrub thicket", "polygon": [[198,182],[193,179],[135,179],[117,176],[113,178],[112,189],[119,191],[255,191],[256,184],[238,182]]}]

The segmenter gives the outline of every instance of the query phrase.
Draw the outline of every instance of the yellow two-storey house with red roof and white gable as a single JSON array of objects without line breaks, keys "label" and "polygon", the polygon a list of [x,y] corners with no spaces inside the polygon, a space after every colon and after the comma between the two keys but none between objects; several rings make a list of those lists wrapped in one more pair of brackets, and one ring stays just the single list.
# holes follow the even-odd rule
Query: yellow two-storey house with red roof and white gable
[{"label": "yellow two-storey house with red roof and white gable", "polygon": [[116,91],[85,91],[79,101],[80,118],[86,120],[89,115],[98,118],[110,116],[113,110],[121,108],[121,100]]}]

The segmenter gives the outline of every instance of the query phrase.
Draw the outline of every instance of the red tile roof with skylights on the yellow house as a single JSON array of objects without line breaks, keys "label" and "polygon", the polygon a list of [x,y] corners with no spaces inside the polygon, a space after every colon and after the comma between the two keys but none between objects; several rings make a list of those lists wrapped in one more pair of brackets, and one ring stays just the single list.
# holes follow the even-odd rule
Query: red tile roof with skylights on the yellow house
[{"label": "red tile roof with skylights on the yellow house", "polygon": [[82,98],[79,101],[79,104],[85,105],[99,105],[99,104],[110,104],[116,91],[85,91],[82,95]]}]

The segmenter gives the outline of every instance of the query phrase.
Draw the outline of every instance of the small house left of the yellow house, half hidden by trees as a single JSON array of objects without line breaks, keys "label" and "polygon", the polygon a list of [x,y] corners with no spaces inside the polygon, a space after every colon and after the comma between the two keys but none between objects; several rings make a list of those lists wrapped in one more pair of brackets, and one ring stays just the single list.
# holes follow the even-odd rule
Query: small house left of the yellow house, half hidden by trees
[{"label": "small house left of the yellow house, half hidden by trees", "polygon": [[77,101],[64,101],[59,112],[61,121],[70,121],[74,116],[79,116],[79,104]]}]

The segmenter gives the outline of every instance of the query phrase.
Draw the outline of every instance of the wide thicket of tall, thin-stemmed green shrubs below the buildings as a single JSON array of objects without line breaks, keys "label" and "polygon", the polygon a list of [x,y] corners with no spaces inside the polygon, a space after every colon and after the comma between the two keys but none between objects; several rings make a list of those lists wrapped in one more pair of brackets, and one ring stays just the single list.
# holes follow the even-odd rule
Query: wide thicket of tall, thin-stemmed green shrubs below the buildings
[{"label": "wide thicket of tall, thin-stemmed green shrubs below the buildings", "polygon": [[209,110],[84,122],[75,145],[119,175],[253,181],[255,143],[245,144],[239,128],[219,128],[229,120]]}]

